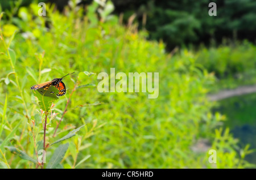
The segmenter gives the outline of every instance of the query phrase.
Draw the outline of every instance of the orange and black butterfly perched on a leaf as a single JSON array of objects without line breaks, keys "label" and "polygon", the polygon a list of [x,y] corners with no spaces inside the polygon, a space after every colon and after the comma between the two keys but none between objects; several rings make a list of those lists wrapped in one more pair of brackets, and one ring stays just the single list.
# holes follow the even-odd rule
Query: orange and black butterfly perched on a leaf
[{"label": "orange and black butterfly perched on a leaf", "polygon": [[[72,72],[71,74],[73,74],[73,73],[74,72]],[[67,74],[67,75],[71,75],[71,74]],[[67,75],[65,75],[65,76],[67,76]],[[49,82],[33,85],[30,89],[37,90],[39,88],[44,88],[44,90],[47,90],[51,85],[53,85],[59,90],[59,93],[57,93],[57,96],[63,96],[66,93],[66,86],[62,82],[62,79],[65,76],[63,76],[62,78],[55,78]]]}]

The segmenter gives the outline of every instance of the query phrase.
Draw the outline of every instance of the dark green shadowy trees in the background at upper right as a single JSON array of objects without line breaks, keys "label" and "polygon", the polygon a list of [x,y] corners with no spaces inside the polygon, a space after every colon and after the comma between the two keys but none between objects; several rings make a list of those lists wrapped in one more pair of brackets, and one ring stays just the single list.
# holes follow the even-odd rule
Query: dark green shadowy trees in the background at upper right
[{"label": "dark green shadowy trees in the background at upper right", "polygon": [[[122,1],[112,0],[115,13],[124,13],[127,20],[137,14],[137,22],[149,32],[150,38],[163,40],[169,50],[181,45],[210,44],[215,39],[221,44],[222,38],[248,39],[255,42],[254,0],[172,0],[172,1]],[[217,5],[217,16],[209,16],[210,2]],[[147,15],[143,25],[143,14]]]}]

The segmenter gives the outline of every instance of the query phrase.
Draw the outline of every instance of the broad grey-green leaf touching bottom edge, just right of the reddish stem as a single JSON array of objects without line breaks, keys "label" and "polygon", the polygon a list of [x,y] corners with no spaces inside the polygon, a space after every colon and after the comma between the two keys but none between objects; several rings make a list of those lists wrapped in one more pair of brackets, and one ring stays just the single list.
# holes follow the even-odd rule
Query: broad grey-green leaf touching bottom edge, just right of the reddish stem
[{"label": "broad grey-green leaf touching bottom edge, just right of the reddish stem", "polygon": [[49,160],[49,163],[47,165],[47,169],[54,169],[57,168],[63,159],[65,153],[68,150],[68,143],[66,144],[61,144],[53,153],[51,160]]}]

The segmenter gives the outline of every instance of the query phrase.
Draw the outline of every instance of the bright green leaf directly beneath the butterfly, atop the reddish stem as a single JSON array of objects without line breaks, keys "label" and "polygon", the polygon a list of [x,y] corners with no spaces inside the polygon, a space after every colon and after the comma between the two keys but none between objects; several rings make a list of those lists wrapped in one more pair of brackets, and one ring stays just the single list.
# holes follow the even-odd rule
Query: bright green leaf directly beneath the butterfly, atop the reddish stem
[{"label": "bright green leaf directly beneath the butterfly, atop the reddish stem", "polygon": [[59,98],[56,96],[57,93],[59,93],[59,90],[52,85],[47,90],[39,88],[33,90],[33,92],[34,95],[38,97],[40,109],[44,112],[47,112],[51,108],[52,102]]}]

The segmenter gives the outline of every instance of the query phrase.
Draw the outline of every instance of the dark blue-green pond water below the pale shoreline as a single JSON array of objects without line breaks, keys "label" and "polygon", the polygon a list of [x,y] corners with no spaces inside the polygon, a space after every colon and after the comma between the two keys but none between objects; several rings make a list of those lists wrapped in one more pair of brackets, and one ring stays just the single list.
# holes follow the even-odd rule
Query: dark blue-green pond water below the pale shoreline
[{"label": "dark blue-green pond water below the pale shoreline", "polygon": [[[241,148],[250,144],[250,149],[256,149],[256,93],[220,100],[213,111],[226,115],[224,126],[239,139]],[[245,160],[256,164],[256,152],[247,155]]]}]

